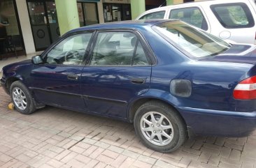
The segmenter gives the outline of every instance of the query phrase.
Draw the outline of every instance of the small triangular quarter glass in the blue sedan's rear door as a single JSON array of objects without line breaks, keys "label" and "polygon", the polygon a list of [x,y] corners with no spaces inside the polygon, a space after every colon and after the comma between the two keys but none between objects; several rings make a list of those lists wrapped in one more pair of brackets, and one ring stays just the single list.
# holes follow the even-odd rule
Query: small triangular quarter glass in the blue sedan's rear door
[{"label": "small triangular quarter glass in the blue sedan's rear door", "polygon": [[147,56],[145,56],[145,52],[140,42],[138,42],[136,52],[134,55],[134,66],[146,66],[148,65]]}]

